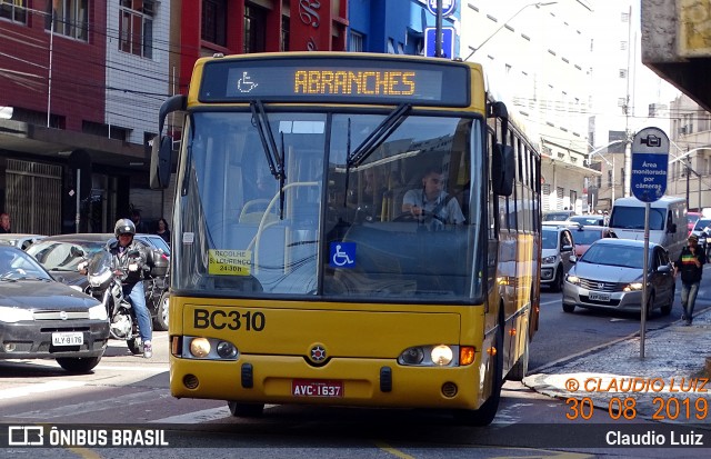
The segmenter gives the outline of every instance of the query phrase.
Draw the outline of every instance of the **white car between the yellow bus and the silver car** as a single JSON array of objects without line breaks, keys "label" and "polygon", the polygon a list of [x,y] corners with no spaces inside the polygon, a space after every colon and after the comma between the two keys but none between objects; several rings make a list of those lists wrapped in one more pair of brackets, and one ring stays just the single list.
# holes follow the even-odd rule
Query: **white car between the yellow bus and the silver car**
[{"label": "white car between the yellow bus and the silver car", "polygon": [[544,224],[541,230],[541,286],[561,291],[571,267],[573,236],[567,226]]}]

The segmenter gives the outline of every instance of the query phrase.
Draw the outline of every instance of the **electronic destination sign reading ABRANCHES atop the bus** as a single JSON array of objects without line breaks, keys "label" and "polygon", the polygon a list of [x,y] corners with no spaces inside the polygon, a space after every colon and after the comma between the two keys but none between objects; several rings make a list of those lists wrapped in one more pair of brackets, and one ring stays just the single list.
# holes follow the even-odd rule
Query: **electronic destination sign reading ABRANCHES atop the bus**
[{"label": "electronic destination sign reading ABRANCHES atop the bus", "polygon": [[222,58],[204,64],[199,99],[469,106],[469,68],[444,62]]}]

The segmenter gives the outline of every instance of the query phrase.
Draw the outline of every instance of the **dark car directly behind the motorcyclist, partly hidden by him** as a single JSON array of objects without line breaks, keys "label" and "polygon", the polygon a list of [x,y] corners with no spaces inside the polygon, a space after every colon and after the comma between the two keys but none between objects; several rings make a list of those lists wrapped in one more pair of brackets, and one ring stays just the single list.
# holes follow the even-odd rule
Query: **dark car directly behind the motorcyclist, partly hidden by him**
[{"label": "dark car directly behind the motorcyclist, partly hidden by him", "polygon": [[[157,235],[136,235],[136,240],[148,249],[154,249],[170,258],[170,247]],[[116,240],[112,233],[78,233],[50,236],[28,249],[28,253],[52,275],[69,286],[76,286],[81,291],[89,292],[89,280],[79,272],[79,263],[89,259],[93,253],[103,250],[107,245]],[[164,263],[168,265],[167,262]],[[156,278],[143,281],[146,305],[153,317],[156,330],[168,330],[168,287],[169,276],[161,272]]]}]

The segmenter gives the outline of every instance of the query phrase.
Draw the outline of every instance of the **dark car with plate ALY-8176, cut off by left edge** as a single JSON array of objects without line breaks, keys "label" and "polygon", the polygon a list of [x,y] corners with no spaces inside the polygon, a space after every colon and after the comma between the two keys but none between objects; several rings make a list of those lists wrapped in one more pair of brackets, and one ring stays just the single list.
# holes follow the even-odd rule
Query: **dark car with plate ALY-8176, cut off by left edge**
[{"label": "dark car with plate ALY-8176, cut off by left edge", "polygon": [[0,246],[0,360],[56,359],[63,369],[93,369],[109,340],[104,306],[54,280],[27,252]]}]

